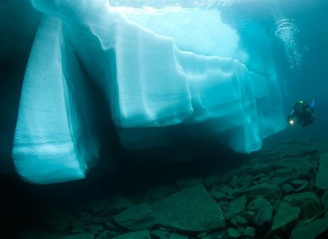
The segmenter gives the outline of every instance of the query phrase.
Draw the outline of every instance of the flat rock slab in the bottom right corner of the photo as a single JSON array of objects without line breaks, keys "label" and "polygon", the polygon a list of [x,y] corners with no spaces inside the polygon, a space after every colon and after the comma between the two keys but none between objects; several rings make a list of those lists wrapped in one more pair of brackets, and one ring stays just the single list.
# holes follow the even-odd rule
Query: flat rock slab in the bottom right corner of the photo
[{"label": "flat rock slab in the bottom right corner of the photo", "polygon": [[[293,230],[290,239],[314,239],[328,231],[328,218],[316,219],[304,225],[300,222]],[[327,237],[322,237],[327,238]]]}]

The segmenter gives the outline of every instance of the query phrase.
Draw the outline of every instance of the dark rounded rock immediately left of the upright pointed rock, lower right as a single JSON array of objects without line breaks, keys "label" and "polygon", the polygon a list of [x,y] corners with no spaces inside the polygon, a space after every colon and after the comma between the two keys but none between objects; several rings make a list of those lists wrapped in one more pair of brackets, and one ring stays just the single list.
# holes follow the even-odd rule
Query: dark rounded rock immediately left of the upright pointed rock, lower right
[{"label": "dark rounded rock immediately left of the upright pointed rock, lower right", "polygon": [[254,199],[247,206],[247,210],[254,211],[255,216],[253,223],[257,226],[270,224],[272,220],[272,205],[270,202],[262,197]]}]

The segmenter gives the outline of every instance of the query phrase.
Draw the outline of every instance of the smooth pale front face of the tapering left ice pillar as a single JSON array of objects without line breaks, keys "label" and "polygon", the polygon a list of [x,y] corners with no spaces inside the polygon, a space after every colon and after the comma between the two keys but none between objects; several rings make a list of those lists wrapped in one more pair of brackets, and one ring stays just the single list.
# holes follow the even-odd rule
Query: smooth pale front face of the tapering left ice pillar
[{"label": "smooth pale front face of the tapering left ice pillar", "polygon": [[43,20],[39,26],[24,78],[14,138],[16,170],[36,183],[85,177],[85,166],[77,158],[68,125],[59,27],[59,19]]}]

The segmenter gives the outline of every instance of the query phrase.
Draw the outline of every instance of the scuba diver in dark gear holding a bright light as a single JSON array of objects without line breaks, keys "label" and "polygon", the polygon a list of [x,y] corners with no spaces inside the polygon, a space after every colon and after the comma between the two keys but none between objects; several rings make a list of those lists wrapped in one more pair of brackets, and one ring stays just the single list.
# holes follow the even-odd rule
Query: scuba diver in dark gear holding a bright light
[{"label": "scuba diver in dark gear holding a bright light", "polygon": [[312,100],[311,106],[306,103],[304,100],[298,100],[295,102],[295,105],[287,117],[287,122],[290,125],[295,123],[294,117],[297,118],[297,123],[301,124],[303,128],[306,125],[311,124],[314,119],[314,99]]}]

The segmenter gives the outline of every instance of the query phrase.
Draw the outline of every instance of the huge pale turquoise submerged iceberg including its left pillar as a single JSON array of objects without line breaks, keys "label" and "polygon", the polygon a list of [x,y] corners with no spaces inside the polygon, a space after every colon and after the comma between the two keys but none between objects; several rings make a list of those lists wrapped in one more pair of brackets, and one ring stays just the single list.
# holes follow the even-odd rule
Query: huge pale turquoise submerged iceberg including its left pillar
[{"label": "huge pale turquoise submerged iceberg including its left pillar", "polygon": [[[165,143],[165,126],[202,124],[206,131],[199,134],[249,153],[285,125],[277,80],[234,59],[243,52],[236,42],[227,47],[230,57],[229,51],[220,56],[220,49],[211,55],[209,46],[183,39],[178,33],[183,25],[169,21],[166,35],[159,21],[147,28],[107,1],[34,1],[33,6],[43,17],[26,69],[13,147],[15,168],[29,182],[84,178],[98,160],[99,119],[105,111],[127,149]],[[153,16],[142,17],[145,23]],[[212,27],[204,30],[206,37]],[[99,108],[97,94],[106,107]]]}]

